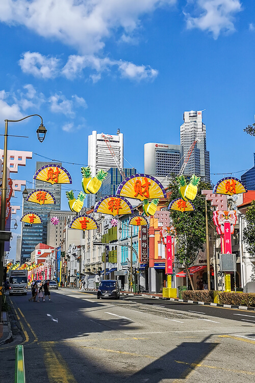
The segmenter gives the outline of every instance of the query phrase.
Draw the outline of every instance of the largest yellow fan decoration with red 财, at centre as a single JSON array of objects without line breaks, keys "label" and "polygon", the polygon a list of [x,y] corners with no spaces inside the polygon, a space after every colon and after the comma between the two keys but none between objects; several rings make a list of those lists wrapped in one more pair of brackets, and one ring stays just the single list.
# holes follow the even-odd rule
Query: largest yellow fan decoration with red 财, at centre
[{"label": "largest yellow fan decoration with red \u8d22, at centre", "polygon": [[166,198],[166,191],[156,178],[147,174],[135,174],[120,183],[116,196],[143,201],[146,199]]}]

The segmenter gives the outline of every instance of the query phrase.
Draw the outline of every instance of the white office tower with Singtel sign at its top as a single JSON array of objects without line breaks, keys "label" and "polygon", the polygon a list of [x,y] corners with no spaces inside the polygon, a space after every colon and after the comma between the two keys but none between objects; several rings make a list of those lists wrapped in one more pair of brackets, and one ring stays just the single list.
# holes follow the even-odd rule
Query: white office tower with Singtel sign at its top
[{"label": "white office tower with Singtel sign at its top", "polygon": [[[123,169],[123,133],[119,129],[116,135],[92,131],[88,139],[88,166],[94,177],[99,169],[108,171],[111,167]],[[99,195],[89,194],[87,206],[91,207],[99,200]]]}]

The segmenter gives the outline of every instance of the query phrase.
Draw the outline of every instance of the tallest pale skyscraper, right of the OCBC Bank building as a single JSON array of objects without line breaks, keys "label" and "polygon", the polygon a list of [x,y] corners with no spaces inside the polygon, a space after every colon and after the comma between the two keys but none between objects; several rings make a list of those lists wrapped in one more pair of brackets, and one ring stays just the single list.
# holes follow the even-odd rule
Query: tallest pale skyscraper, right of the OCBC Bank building
[{"label": "tallest pale skyscraper, right of the OCBC Bank building", "polygon": [[202,180],[210,182],[210,154],[206,143],[206,125],[202,122],[202,111],[191,110],[183,114],[184,124],[180,127],[181,145],[184,157],[189,151],[192,142],[196,143],[184,174],[191,176],[195,174]]}]

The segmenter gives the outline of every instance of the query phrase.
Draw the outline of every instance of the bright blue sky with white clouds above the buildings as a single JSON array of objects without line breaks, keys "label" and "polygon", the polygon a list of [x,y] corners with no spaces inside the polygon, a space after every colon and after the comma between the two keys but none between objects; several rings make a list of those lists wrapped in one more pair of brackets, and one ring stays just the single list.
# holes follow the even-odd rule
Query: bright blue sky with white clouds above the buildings
[{"label": "bright blue sky with white clouds above the buildings", "polygon": [[[119,128],[142,172],[145,142],[180,143],[183,112],[206,109],[211,173],[249,169],[254,11],[239,0],[2,0],[0,128],[39,113],[48,130],[39,143],[36,117],[10,124],[30,138],[8,148],[86,165],[88,134]],[[36,160],[15,177],[31,181]],[[63,165],[81,189],[80,166]]]}]

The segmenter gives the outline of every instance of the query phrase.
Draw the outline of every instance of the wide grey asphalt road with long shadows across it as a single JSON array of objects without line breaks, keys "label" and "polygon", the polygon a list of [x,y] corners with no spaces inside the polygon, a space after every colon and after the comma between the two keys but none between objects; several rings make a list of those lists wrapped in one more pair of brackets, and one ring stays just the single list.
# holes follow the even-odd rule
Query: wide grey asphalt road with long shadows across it
[{"label": "wide grey asphalt road with long shadows across it", "polygon": [[[23,328],[27,382],[255,380],[252,312],[138,297],[97,300],[70,289],[52,292],[50,302],[11,301]],[[14,381],[15,342],[22,340],[0,348],[1,383]]]}]

